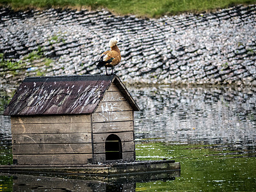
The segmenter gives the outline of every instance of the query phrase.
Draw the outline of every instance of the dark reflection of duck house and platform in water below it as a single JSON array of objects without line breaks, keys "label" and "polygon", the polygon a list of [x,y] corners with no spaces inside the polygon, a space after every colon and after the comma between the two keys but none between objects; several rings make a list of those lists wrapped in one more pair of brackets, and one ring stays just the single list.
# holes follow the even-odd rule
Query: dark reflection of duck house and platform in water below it
[{"label": "dark reflection of duck house and platform in water below it", "polygon": [[[151,175],[151,176],[150,176]],[[129,175],[123,175],[122,181],[118,177],[103,178],[100,180],[96,177],[83,178],[82,175],[58,175],[58,177],[46,177],[46,176],[33,176],[33,175],[0,175],[1,179],[5,179],[7,183],[13,182],[13,191],[136,191],[136,182],[156,182],[161,180],[174,180],[175,177],[179,177],[180,172],[161,173],[157,177],[157,174],[149,174],[146,178],[142,177],[130,177]],[[62,176],[62,177],[61,177]],[[93,180],[96,179],[96,180]],[[4,185],[2,185],[4,186]],[[3,188],[5,191],[11,191],[8,188],[10,185],[6,185]],[[0,190],[1,191],[1,190]]]}]

